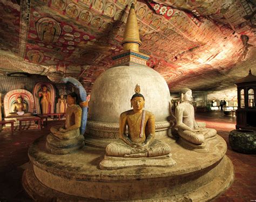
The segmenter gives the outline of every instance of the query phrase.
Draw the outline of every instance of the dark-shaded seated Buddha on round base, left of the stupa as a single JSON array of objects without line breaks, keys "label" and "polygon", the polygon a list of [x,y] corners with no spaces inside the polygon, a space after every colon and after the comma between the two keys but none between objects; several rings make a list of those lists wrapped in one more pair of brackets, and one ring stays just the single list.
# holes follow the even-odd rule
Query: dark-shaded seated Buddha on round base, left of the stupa
[{"label": "dark-shaded seated Buddha on round base, left of the stupa", "polygon": [[80,134],[82,109],[76,105],[77,94],[67,96],[66,121],[63,126],[51,127],[46,138],[46,148],[52,154],[69,154],[84,146],[84,136]]}]

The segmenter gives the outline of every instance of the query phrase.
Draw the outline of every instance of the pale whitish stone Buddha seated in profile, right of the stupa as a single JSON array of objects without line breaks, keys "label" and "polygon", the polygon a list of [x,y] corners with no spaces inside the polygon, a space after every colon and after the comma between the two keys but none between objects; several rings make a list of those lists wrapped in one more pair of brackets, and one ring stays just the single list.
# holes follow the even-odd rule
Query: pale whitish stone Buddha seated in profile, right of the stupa
[{"label": "pale whitish stone Buddha seated in profile, right of the stupa", "polygon": [[178,134],[186,143],[196,148],[204,148],[208,138],[217,134],[215,129],[206,128],[203,122],[194,120],[194,107],[189,103],[192,90],[184,88],[180,92],[181,103],[176,107],[176,127]]}]

